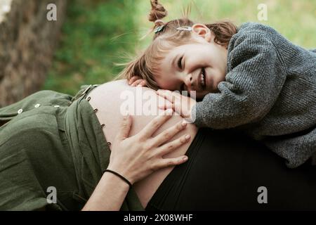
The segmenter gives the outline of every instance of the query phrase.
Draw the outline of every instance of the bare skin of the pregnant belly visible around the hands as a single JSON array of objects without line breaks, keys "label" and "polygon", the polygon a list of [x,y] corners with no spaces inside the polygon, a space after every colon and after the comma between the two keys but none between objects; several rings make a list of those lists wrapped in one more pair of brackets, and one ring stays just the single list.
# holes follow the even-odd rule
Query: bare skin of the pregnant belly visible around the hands
[{"label": "bare skin of the pregnant belly visible around the hands", "polygon": [[[119,124],[121,123],[123,117],[120,111],[121,105],[124,104],[124,99],[122,100],[119,97],[121,95],[121,92],[128,90],[130,91],[130,95],[136,94],[135,87],[121,85],[122,84],[118,84],[117,82],[103,84],[101,86],[98,86],[96,89],[93,89],[93,91],[91,91],[91,93],[89,93],[86,97],[89,98],[89,103],[91,104],[92,108],[98,109],[96,116],[98,117],[100,124],[105,124],[105,126],[103,126],[103,133],[105,135],[105,139],[107,139],[107,141],[110,141],[111,143],[114,141],[115,136],[119,132]],[[154,96],[156,96],[156,94],[154,94]],[[134,97],[137,98],[136,95]],[[153,103],[157,104],[157,99],[152,99],[152,101]],[[136,107],[137,103],[143,102],[136,101]],[[145,127],[146,124],[148,124],[154,117],[154,115],[132,116],[133,125],[131,127],[129,136],[138,134],[138,132],[143,129],[143,127]],[[154,135],[157,135],[165,129],[168,129],[180,120],[183,120],[183,118],[178,115],[171,117],[171,119],[163,124],[162,127],[160,127]],[[177,134],[174,138],[177,138],[184,134],[190,134],[190,141],[183,144],[183,146],[180,146],[176,150],[173,150],[171,153],[164,155],[164,158],[173,158],[184,155],[189,148],[190,143],[192,143],[192,140],[197,134],[197,127],[195,127],[195,125],[193,124],[187,124],[186,129],[184,131],[180,131],[180,133]],[[166,167],[164,169],[159,169],[147,176],[145,179],[138,181],[136,184],[133,185],[143,207],[147,205],[150,198],[152,198],[152,195],[154,195],[160,184],[162,184],[162,181],[164,181],[166,176],[168,176],[173,168],[174,167]]]}]

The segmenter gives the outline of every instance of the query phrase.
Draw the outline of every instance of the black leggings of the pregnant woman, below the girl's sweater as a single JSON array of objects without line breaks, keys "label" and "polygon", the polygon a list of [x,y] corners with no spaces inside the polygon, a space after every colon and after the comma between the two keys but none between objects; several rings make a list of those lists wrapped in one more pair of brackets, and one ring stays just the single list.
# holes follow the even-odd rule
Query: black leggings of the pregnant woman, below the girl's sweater
[{"label": "black leggings of the pregnant woman, below the girl's sweater", "polygon": [[[316,167],[289,169],[237,131],[199,129],[186,155],[145,210],[316,210]],[[261,186],[268,203],[258,203]]]}]

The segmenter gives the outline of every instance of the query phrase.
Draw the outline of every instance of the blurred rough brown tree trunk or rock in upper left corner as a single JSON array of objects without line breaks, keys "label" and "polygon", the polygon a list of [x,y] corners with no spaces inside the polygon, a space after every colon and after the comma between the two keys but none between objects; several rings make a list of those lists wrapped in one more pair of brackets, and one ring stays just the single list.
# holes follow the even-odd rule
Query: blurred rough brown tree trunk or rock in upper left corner
[{"label": "blurred rough brown tree trunk or rock in upper left corner", "polygon": [[[48,4],[57,20],[48,21]],[[0,1],[0,107],[39,91],[51,65],[66,0]]]}]

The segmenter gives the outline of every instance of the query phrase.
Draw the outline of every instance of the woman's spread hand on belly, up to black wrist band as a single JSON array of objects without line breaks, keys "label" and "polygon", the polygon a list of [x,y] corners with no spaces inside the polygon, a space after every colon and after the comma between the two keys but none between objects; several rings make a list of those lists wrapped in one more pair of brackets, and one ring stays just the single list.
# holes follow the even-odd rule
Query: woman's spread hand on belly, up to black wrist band
[{"label": "woman's spread hand on belly, up to black wrist band", "polygon": [[129,138],[132,124],[131,117],[124,117],[119,134],[112,144],[110,164],[107,169],[118,172],[128,179],[131,184],[134,184],[157,169],[180,165],[185,162],[187,156],[162,158],[163,155],[170,153],[190,140],[190,135],[187,134],[169,141],[179,131],[185,129],[187,124],[185,121],[179,122],[161,134],[152,137],[152,134],[171,118],[172,113],[172,110],[166,110],[165,115],[155,117],[143,130]]}]

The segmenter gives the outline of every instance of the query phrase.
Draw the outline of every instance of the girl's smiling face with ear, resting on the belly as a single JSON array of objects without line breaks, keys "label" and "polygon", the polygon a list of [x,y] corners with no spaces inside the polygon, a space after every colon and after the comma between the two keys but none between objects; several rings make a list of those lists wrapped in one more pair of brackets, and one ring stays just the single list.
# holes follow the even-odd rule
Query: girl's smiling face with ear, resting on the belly
[{"label": "girl's smiling face with ear, resting on the belly", "polygon": [[196,97],[202,98],[218,92],[217,85],[225,80],[226,64],[226,47],[214,42],[208,27],[196,24],[192,26],[191,44],[166,53],[155,81],[161,89],[196,91]]}]

